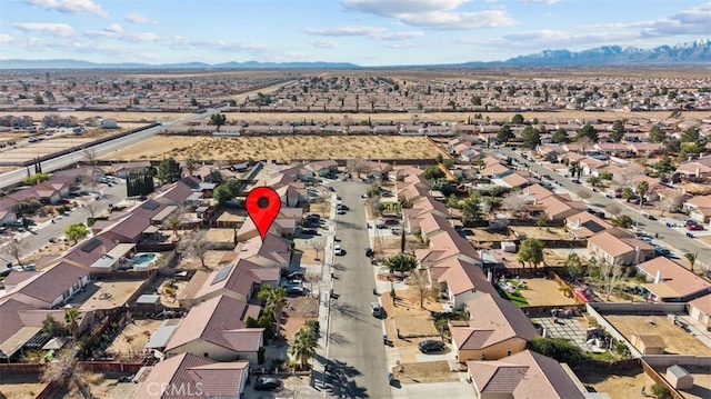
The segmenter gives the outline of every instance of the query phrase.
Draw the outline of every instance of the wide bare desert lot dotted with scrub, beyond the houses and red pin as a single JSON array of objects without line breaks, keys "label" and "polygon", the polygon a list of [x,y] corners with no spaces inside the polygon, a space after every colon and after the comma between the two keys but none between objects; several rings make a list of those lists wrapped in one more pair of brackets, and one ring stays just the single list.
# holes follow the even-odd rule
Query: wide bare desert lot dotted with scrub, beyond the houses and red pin
[{"label": "wide bare desert lot dotted with scrub, beyond the houses and red pin", "polygon": [[107,154],[112,161],[200,160],[290,161],[294,159],[432,159],[439,150],[425,137],[282,136],[282,137],[153,137]]}]

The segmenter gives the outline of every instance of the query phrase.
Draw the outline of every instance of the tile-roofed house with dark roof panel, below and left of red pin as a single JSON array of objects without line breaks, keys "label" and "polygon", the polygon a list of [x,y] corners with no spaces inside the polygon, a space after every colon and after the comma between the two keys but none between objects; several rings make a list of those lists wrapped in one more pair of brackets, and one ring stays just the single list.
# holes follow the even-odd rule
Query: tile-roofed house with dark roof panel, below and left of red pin
[{"label": "tile-roofed house with dark roof panel, below and left of red pin", "polygon": [[198,270],[178,300],[186,308],[219,296],[247,302],[262,285],[277,287],[280,273],[279,268],[264,268],[238,258],[212,271]]}]

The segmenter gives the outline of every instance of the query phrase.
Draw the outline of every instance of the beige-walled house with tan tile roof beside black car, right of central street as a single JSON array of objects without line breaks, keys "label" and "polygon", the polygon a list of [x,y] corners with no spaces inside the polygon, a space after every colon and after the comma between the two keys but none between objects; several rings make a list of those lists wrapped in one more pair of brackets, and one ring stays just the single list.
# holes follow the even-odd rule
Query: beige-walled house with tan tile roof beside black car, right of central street
[{"label": "beige-walled house with tan tile roof beside black car, right of central street", "polygon": [[525,349],[530,339],[539,337],[521,308],[487,293],[465,305],[468,326],[450,323],[452,348],[461,363],[469,360],[498,360]]}]

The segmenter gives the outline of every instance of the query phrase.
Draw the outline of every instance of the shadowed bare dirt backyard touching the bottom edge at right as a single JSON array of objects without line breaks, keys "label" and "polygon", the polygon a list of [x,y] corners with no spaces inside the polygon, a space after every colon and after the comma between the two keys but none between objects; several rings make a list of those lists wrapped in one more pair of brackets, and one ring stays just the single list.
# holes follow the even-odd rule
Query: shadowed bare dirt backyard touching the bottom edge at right
[{"label": "shadowed bare dirt backyard touching the bottom edge at right", "polygon": [[642,368],[619,370],[615,373],[597,370],[577,371],[575,376],[589,391],[607,392],[611,399],[643,399],[642,387],[645,387],[645,391],[650,392],[650,388],[654,383],[642,371]]}]

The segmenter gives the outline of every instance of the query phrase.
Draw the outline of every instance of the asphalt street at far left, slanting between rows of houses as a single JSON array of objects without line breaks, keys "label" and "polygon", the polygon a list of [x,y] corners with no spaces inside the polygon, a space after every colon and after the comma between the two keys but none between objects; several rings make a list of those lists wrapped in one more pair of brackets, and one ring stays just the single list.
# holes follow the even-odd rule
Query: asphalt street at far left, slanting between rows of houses
[{"label": "asphalt street at far left, slanting between rows of houses", "polygon": [[[76,201],[80,205],[84,202],[96,202],[97,209],[94,210],[94,216],[97,216],[109,209],[109,203],[118,205],[123,199],[126,199],[124,182],[113,184],[113,187],[108,187],[107,184],[98,184],[97,190],[99,190],[102,194],[102,198],[100,200],[94,199],[96,194],[89,194],[71,198],[71,201]],[[90,216],[91,213],[89,212],[89,210],[87,210],[86,207],[79,207],[66,217],[56,218],[54,223],[48,220],[37,226],[32,226],[31,231],[6,233],[3,235],[3,237],[19,239],[22,243],[22,255],[28,256],[48,246],[51,238],[58,238],[62,236],[63,230],[67,226],[72,223],[83,223]],[[17,261],[12,259],[12,257],[7,253],[7,251],[4,251],[4,248],[0,250],[0,270],[6,269],[6,263],[8,262],[17,263]]]}]

